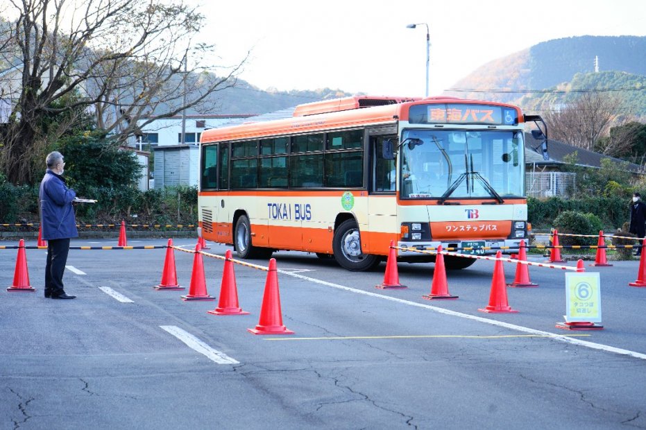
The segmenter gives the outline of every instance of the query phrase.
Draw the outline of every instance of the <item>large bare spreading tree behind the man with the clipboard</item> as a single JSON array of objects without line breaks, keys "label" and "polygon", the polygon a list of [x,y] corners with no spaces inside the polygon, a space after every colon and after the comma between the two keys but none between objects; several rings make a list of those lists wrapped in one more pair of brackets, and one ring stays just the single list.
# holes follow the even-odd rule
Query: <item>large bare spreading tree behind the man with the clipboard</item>
[{"label": "large bare spreading tree behind the man with the clipboard", "polygon": [[[213,46],[192,43],[204,17],[181,2],[10,3],[17,18],[0,64],[17,69],[19,85],[0,161],[14,183],[33,182],[35,169],[42,169],[42,153],[72,125],[62,123],[44,133],[44,118],[89,110],[97,127],[123,142],[137,132],[140,118],[149,123],[171,117],[235,85],[245,61],[219,76],[209,73],[214,71],[209,63]],[[192,64],[185,73],[188,58]]]}]

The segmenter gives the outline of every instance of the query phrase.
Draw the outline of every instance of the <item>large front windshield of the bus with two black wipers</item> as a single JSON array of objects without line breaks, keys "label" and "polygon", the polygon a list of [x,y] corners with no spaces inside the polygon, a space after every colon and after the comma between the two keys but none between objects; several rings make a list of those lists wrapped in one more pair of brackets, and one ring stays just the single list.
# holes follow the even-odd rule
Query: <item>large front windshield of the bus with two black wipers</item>
[{"label": "large front windshield of the bus with two black wipers", "polygon": [[400,153],[400,197],[520,197],[525,145],[517,130],[406,130]]}]

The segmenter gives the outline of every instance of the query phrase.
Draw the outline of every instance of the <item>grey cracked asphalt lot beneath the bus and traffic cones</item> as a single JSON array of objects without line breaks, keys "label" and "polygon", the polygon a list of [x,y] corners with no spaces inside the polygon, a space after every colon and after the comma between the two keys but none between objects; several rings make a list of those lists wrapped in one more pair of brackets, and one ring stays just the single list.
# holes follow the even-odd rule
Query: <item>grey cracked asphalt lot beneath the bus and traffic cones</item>
[{"label": "grey cracked asphalt lot beneath the bus and traffic cones", "polygon": [[[563,270],[530,268],[538,288],[507,289],[519,313],[488,314],[477,309],[491,261],[448,273],[458,300],[428,301],[433,264],[399,264],[408,289],[384,291],[384,264],[350,273],[278,252],[282,320],[295,334],[255,336],[266,271],[235,266],[250,314],[214,316],[217,300],[180,300],[189,253],[175,252],[187,290],[152,288],[164,253],[71,250],[66,291],[78,298],[51,300],[44,250],[26,251],[35,293],[4,289],[17,251],[0,250],[0,429],[646,428],[646,289],[627,285],[638,261],[586,266],[600,273],[605,328],[569,332],[554,327]],[[223,263],[204,268],[219,298]],[[508,281],[514,270],[505,265]]]}]

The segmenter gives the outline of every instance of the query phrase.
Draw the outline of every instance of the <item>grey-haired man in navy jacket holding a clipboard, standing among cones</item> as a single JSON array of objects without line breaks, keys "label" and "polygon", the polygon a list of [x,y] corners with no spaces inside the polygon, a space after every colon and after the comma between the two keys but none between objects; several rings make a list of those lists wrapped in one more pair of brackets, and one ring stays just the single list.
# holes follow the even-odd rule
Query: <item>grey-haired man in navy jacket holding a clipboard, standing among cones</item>
[{"label": "grey-haired man in navy jacket holding a clipboard, standing among cones", "polygon": [[69,239],[78,237],[76,216],[72,201],[76,198],[73,189],[67,188],[62,177],[65,168],[63,156],[58,151],[47,155],[47,170],[40,182],[40,225],[42,239],[47,241],[47,264],[45,266],[45,297],[74,299],[63,290],[62,277],[67,263]]}]

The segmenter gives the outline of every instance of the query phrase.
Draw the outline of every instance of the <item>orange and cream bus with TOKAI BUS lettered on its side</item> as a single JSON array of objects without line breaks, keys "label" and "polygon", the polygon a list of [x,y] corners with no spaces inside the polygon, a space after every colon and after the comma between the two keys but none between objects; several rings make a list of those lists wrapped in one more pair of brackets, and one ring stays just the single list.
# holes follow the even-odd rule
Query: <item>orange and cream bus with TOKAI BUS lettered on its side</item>
[{"label": "orange and cream bus with TOKAI BUS lettered on its side", "polygon": [[[232,244],[241,258],[300,250],[348,270],[379,264],[391,241],[518,247],[528,237],[529,120],[541,121],[502,103],[355,96],[299,105],[288,119],[206,130],[198,233]],[[398,260],[434,256],[399,250]],[[445,257],[445,266],[473,261]]]}]

